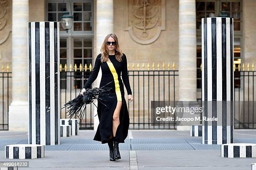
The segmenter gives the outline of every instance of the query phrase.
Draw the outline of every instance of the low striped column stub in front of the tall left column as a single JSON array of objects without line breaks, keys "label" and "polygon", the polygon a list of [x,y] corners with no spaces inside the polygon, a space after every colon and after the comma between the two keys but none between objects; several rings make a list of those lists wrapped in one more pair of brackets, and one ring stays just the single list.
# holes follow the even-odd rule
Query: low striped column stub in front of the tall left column
[{"label": "low striped column stub in front of the tall left column", "polygon": [[44,158],[44,145],[17,144],[5,146],[7,159],[37,159]]}]

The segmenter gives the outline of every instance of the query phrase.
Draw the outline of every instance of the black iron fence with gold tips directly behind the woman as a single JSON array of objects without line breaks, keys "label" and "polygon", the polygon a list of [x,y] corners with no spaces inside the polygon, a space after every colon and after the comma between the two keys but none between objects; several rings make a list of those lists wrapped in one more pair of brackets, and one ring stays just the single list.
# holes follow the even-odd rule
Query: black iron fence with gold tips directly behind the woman
[{"label": "black iron fence with gold tips directly behind the woman", "polygon": [[[61,71],[61,107],[64,103],[72,100],[79,94],[86,80],[90,77],[90,71],[80,70]],[[177,94],[178,70],[128,70],[130,85],[133,93],[133,102],[126,102],[130,116],[130,129],[176,129],[172,123],[160,126],[151,126],[151,100],[175,100]],[[124,86],[125,87],[125,86]],[[80,129],[93,129],[94,124],[94,105],[87,105],[84,118],[80,123]],[[61,118],[67,117],[67,109],[61,110]],[[81,118],[81,117],[80,117]]]}]

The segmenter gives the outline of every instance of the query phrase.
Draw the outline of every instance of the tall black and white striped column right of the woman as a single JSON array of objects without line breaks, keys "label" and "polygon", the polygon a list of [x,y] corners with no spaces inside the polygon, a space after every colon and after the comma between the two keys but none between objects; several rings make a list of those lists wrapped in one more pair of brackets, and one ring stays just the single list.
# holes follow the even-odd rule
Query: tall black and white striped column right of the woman
[{"label": "tall black and white striped column right of the woman", "polygon": [[202,18],[203,144],[233,143],[233,39],[233,18]]}]

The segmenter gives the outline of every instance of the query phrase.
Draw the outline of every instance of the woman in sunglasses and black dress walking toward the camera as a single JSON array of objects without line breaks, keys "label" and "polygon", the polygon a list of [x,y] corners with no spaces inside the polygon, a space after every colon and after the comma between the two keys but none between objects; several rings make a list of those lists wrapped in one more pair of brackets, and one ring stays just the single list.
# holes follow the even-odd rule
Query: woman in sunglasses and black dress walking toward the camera
[{"label": "woman in sunglasses and black dress walking toward the camera", "polygon": [[[100,87],[110,88],[110,96],[104,97],[103,100],[107,107],[98,102],[97,113],[100,124],[93,140],[108,143],[110,160],[115,161],[121,159],[118,143],[124,143],[130,123],[123,83],[129,102],[133,101],[133,96],[128,77],[127,59],[119,48],[117,36],[115,34],[107,35],[100,51],[101,54],[97,56],[92,73],[80,94],[83,95],[83,92],[95,81],[101,67]],[[120,77],[121,73],[123,82]]]}]

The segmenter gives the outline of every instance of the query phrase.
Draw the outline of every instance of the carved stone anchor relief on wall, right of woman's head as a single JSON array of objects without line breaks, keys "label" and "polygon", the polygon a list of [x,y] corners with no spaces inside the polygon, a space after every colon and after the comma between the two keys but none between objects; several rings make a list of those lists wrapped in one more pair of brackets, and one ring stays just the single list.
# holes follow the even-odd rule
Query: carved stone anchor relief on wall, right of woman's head
[{"label": "carved stone anchor relief on wall, right of woman's head", "polygon": [[150,44],[165,30],[165,0],[125,0],[125,31],[139,44]]}]

